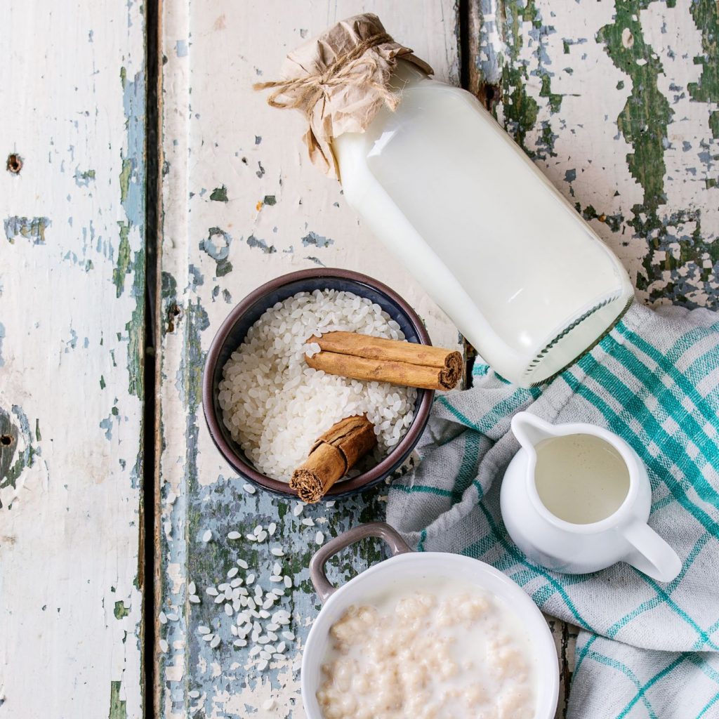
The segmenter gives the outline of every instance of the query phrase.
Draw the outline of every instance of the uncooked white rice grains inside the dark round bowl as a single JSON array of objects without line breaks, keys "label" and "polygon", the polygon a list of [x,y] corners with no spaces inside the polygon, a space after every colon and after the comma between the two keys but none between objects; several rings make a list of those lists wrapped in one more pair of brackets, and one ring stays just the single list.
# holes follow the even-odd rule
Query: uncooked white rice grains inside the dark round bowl
[{"label": "uncooked white rice grains inside the dark round bowl", "polygon": [[300,292],[267,310],[223,368],[219,405],[232,439],[263,474],[290,479],[320,434],[367,413],[379,460],[414,416],[417,392],[387,383],[326,375],[306,365],[313,334],[349,331],[404,339],[399,325],[368,298],[338,290]]}]

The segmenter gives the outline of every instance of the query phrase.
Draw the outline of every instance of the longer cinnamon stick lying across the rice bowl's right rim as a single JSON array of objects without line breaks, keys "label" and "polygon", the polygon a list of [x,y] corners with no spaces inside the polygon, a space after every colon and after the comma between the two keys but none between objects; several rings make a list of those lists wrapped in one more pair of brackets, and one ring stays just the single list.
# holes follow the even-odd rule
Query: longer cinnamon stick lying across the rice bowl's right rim
[{"label": "longer cinnamon stick lying across the rice bowl's right rim", "polygon": [[462,355],[452,349],[355,332],[328,332],[307,342],[320,347],[305,355],[307,364],[328,375],[426,390],[452,390],[462,378]]}]

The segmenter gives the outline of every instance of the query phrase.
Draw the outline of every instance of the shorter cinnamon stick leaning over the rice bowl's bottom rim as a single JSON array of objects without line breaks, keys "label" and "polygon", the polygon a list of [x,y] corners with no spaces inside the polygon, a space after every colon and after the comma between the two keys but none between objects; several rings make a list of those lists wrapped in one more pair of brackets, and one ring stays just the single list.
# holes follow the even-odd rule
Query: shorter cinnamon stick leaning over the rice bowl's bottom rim
[{"label": "shorter cinnamon stick leaning over the rice bowl's bottom rim", "polygon": [[366,415],[340,420],[313,444],[305,462],[292,473],[290,489],[303,502],[319,502],[376,444],[375,428]]}]

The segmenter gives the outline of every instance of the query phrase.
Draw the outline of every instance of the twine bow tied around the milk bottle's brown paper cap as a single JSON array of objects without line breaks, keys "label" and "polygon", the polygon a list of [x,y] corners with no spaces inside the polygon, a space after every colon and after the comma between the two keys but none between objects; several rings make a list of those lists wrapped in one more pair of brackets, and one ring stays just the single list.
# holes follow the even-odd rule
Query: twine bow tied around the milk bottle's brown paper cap
[{"label": "twine bow tied around the milk bottle's brown paper cap", "polygon": [[[331,88],[344,84],[355,86],[369,85],[375,89],[385,104],[391,109],[397,109],[400,98],[397,93],[390,90],[385,84],[377,83],[371,78],[377,69],[377,61],[365,52],[372,47],[382,45],[384,42],[393,42],[386,32],[377,33],[361,40],[352,50],[338,55],[331,65],[321,75],[305,75],[301,78],[255,83],[254,90],[268,90],[273,93],[267,98],[270,107],[279,109],[298,109],[309,114],[321,95],[327,96]],[[365,73],[357,73],[359,68],[366,66]]]}]

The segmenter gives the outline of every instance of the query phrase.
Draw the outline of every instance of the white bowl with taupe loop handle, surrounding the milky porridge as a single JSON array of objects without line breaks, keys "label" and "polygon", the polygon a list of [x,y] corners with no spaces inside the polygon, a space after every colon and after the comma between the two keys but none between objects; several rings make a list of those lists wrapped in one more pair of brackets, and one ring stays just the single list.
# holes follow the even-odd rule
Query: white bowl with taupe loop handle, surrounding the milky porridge
[{"label": "white bowl with taupe loop handle, surrounding the milky porridge", "polygon": [[[324,571],[327,560],[347,546],[370,536],[383,539],[393,556],[365,569],[342,587],[333,587]],[[310,578],[323,606],[314,620],[302,656],[302,701],[308,719],[323,719],[315,696],[321,682],[321,664],[329,649],[331,626],[347,608],[362,603],[367,597],[376,596],[398,581],[437,578],[456,578],[477,585],[494,595],[516,616],[521,628],[526,631],[531,664],[536,673],[533,719],[554,717],[559,695],[559,661],[549,626],[533,601],[505,574],[489,564],[461,554],[412,551],[392,527],[374,522],[349,529],[319,549],[310,562]]]}]

